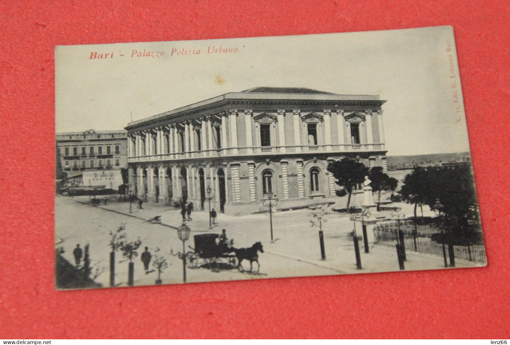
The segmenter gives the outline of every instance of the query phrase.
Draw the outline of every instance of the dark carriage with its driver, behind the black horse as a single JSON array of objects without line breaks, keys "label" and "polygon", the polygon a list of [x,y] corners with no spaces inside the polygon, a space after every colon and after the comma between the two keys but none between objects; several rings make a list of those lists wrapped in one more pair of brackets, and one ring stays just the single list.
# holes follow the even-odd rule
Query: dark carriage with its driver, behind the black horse
[{"label": "dark carriage with its driver, behind the black horse", "polygon": [[[193,251],[186,253],[189,268],[198,268],[207,265],[209,268],[235,267],[236,255],[231,244],[217,243],[218,234],[195,235],[195,247],[189,246]],[[232,243],[232,242],[231,242]]]}]

